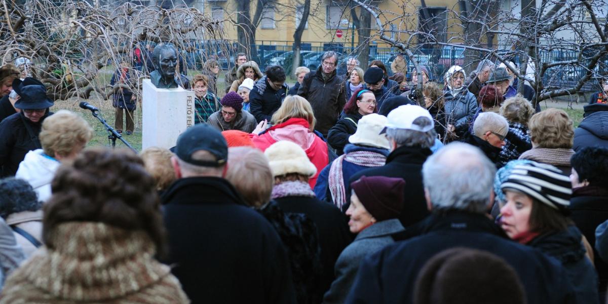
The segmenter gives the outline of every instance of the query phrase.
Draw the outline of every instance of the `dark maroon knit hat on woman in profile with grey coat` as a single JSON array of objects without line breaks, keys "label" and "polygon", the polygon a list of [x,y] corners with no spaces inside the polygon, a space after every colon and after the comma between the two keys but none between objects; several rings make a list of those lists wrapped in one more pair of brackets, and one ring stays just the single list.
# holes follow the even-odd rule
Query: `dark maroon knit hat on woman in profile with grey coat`
[{"label": "dark maroon knit hat on woman in profile with grey coat", "polygon": [[350,184],[354,193],[376,221],[397,218],[403,210],[406,181],[386,176],[361,176]]}]

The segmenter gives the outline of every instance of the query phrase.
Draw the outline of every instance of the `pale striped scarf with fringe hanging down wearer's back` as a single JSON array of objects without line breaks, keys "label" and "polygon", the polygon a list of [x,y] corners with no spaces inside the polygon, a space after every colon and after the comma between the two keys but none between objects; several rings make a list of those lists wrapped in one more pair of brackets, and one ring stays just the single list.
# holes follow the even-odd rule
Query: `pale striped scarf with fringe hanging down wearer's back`
[{"label": "pale striped scarf with fringe hanging down wearer's back", "polygon": [[385,164],[386,156],[371,151],[356,151],[343,154],[331,163],[328,184],[334,205],[340,210],[342,210],[342,207],[346,204],[342,161],[347,161],[363,167],[379,167]]}]

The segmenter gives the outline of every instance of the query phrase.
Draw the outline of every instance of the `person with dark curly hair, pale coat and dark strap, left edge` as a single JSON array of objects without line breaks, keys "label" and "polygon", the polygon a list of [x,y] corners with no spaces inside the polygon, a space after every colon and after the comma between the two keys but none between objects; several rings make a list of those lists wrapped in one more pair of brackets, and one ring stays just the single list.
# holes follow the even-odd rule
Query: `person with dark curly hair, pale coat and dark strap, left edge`
[{"label": "person with dark curly hair, pale coat and dark strap, left edge", "polygon": [[42,246],[42,202],[23,179],[0,180],[0,216],[13,229],[15,240],[29,258]]}]

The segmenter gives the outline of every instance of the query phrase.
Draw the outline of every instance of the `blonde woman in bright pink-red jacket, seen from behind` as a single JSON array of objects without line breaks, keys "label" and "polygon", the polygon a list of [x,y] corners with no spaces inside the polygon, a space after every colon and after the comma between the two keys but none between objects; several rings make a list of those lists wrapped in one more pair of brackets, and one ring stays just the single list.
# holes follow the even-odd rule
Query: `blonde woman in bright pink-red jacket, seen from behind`
[{"label": "blonde woman in bright pink-red jacket, seen from behind", "polygon": [[309,180],[310,187],[313,188],[319,172],[329,163],[327,143],[314,133],[315,123],[313,108],[308,100],[298,95],[289,95],[272,115],[270,128],[266,129],[265,121],[258,124],[252,142],[262,151],[279,140],[289,140],[299,145],[317,168]]}]

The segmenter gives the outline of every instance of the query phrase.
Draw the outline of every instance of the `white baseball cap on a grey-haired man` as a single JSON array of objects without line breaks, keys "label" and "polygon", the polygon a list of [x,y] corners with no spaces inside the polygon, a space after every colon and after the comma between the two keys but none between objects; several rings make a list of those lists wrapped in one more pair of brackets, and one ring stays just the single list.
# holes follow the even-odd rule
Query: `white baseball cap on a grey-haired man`
[{"label": "white baseball cap on a grey-haired man", "polygon": [[[427,117],[430,120],[428,125],[418,125],[413,123],[418,117]],[[390,111],[387,116],[387,123],[385,125],[384,133],[387,129],[402,129],[402,130],[413,130],[420,132],[427,132],[435,128],[435,121],[430,116],[429,111],[421,106],[416,105],[403,105]]]}]

